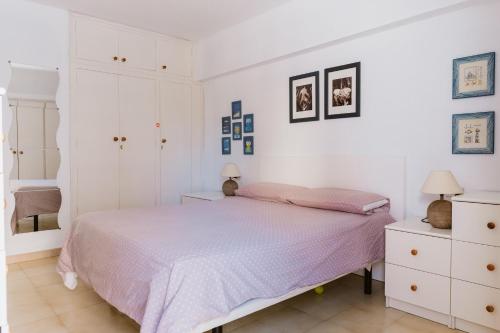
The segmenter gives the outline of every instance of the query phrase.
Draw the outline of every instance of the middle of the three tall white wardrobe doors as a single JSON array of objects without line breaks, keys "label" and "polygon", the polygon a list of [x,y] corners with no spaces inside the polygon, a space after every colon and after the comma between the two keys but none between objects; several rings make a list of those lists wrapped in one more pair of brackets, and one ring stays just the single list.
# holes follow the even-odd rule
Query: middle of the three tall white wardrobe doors
[{"label": "middle of the three tall white wardrobe doors", "polygon": [[155,204],[156,81],[120,76],[120,208]]}]

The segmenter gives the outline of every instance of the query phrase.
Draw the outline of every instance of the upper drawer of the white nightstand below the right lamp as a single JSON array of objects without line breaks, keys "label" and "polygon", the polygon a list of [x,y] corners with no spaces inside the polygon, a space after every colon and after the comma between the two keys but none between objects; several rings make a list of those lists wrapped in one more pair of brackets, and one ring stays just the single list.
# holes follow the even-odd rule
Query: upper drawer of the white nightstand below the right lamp
[{"label": "upper drawer of the white nightstand below the right lamp", "polygon": [[387,230],[385,257],[390,264],[450,276],[451,240]]}]

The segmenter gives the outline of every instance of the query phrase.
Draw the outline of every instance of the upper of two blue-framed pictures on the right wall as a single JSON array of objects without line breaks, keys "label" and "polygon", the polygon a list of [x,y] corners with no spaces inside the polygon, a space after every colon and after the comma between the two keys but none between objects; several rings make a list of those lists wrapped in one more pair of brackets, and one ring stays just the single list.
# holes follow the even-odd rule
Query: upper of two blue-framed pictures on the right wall
[{"label": "upper of two blue-framed pictures on the right wall", "polygon": [[453,60],[453,98],[495,94],[495,52]]}]

